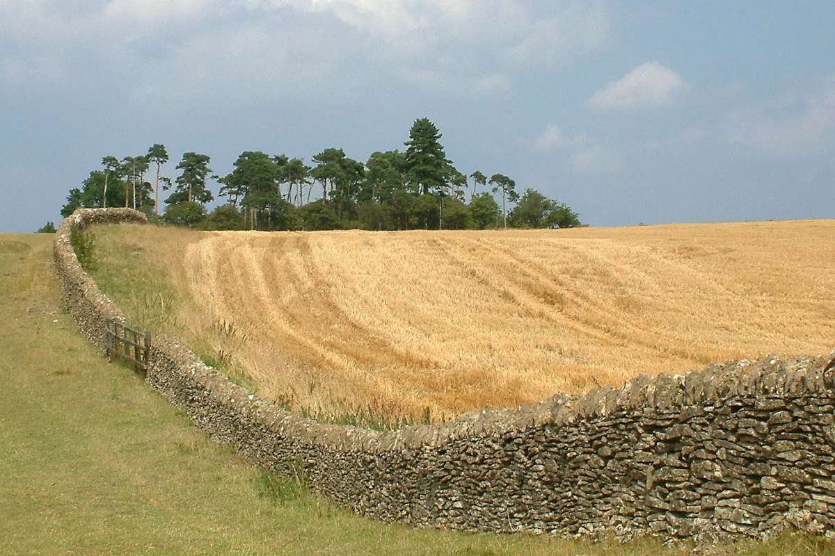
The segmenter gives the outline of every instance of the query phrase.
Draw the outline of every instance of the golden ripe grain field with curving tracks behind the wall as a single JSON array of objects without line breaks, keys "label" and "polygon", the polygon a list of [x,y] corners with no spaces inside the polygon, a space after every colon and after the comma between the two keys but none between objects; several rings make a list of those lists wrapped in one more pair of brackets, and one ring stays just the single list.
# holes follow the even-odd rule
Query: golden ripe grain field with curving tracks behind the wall
[{"label": "golden ripe grain field with curving tracks behind the wall", "polygon": [[450,417],[835,346],[832,220],[167,239],[121,228],[164,260],[180,336],[311,413]]}]

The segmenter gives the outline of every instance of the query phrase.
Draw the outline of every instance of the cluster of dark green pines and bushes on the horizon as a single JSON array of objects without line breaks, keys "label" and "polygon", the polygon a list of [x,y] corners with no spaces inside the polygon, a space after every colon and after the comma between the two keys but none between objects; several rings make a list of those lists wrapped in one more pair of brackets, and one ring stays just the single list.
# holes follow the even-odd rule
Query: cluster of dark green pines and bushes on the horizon
[{"label": "cluster of dark green pines and bushes on the horizon", "polygon": [[[152,220],[201,229],[368,230],[568,228],[577,213],[533,188],[521,194],[512,178],[458,171],[444,153],[442,135],[415,120],[406,150],[376,152],[366,163],[326,148],[307,165],[301,158],[245,151],[224,176],[212,174],[210,157],[184,153],[172,182],[160,174],[169,155],[154,144],[138,157],[102,158],[80,188],[70,189],[62,216],[76,208],[128,207]],[[154,183],[145,176],[154,173]],[[220,183],[227,202],[213,211],[207,186]],[[472,180],[472,187],[470,186]],[[159,189],[173,188],[159,214]],[[494,197],[495,195],[495,197]],[[467,202],[467,198],[469,201]],[[498,198],[498,200],[497,200]]]}]

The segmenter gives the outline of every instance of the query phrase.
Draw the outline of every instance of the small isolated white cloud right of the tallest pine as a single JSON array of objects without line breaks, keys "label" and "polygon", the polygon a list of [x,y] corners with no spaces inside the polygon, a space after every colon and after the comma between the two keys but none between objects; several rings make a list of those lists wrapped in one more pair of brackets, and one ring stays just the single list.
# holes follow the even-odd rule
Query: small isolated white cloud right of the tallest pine
[{"label": "small isolated white cloud right of the tallest pine", "polygon": [[601,88],[591,96],[589,104],[598,110],[665,106],[684,87],[676,72],[660,63],[648,62]]}]

